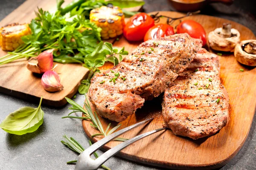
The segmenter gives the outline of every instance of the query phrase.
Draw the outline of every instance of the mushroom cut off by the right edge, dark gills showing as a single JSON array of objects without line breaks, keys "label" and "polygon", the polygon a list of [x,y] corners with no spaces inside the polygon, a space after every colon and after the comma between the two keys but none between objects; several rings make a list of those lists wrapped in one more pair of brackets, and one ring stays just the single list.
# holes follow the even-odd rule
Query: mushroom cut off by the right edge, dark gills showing
[{"label": "mushroom cut off by the right edge, dark gills showing", "polygon": [[235,57],[244,65],[256,66],[256,40],[244,40],[236,45]]}]

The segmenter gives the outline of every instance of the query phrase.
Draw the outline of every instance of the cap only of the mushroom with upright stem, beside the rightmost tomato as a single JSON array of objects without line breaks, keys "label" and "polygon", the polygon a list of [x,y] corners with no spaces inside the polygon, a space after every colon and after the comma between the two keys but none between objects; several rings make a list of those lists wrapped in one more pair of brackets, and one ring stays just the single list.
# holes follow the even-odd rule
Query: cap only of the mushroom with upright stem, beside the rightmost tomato
[{"label": "cap only of the mushroom with upright stem, beside the rightmost tomato", "polygon": [[208,35],[209,45],[212,49],[217,51],[234,51],[234,48],[237,43],[240,41],[240,33],[238,30],[232,28],[231,34],[236,35],[229,38],[223,38],[220,36],[222,28],[216,28],[214,31],[211,31]]}]

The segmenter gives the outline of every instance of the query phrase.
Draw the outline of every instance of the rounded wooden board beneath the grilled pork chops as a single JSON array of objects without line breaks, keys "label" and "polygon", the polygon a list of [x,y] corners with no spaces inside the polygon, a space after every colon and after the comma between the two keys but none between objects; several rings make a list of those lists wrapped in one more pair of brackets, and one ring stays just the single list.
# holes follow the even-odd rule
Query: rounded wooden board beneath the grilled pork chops
[{"label": "rounded wooden board beneath the grilled pork chops", "polygon": [[[160,11],[159,13],[169,17],[184,15],[170,11]],[[250,29],[233,21],[206,15],[186,17],[183,20],[188,19],[201,23],[207,33],[221,27],[222,23],[229,22],[232,23],[233,28],[240,31],[241,40],[256,39]],[[165,22],[166,19],[161,18],[160,23]],[[176,26],[178,23],[179,21],[175,21],[172,25]],[[114,45],[125,46],[126,50],[132,51],[139,43],[129,43],[122,37]],[[140,163],[173,169],[214,169],[230,161],[244,144],[253,120],[256,107],[256,68],[239,64],[233,54],[230,53],[224,53],[219,58],[221,62],[221,82],[227,89],[230,98],[230,122],[227,126],[213,136],[198,140],[175,136],[171,130],[161,131],[126,147],[118,155]],[[244,72],[239,71],[240,68],[243,68]],[[137,127],[121,137],[131,139],[138,134],[162,127],[161,99],[162,96],[160,95],[152,101],[145,102],[141,109],[138,109],[124,122],[119,123],[122,124],[119,129],[122,129],[144,119],[154,117],[154,120],[150,123]],[[109,123],[112,127],[117,125],[116,122],[102,117],[100,117],[100,120],[104,128]],[[99,133],[98,130],[89,125],[90,121],[83,120],[82,124],[89,138],[91,135]],[[94,137],[91,140],[97,142],[100,139],[100,137]],[[119,143],[109,142],[103,149],[108,150]]]}]

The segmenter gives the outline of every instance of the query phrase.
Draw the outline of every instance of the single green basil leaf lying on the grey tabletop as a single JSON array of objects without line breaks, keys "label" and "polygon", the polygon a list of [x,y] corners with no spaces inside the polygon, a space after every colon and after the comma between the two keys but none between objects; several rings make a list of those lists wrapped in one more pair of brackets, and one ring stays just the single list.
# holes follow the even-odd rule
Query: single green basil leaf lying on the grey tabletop
[{"label": "single green basil leaf lying on the grey tabletop", "polygon": [[34,132],[44,122],[44,111],[41,109],[42,99],[43,96],[38,108],[23,107],[10,113],[0,124],[0,127],[15,135]]}]

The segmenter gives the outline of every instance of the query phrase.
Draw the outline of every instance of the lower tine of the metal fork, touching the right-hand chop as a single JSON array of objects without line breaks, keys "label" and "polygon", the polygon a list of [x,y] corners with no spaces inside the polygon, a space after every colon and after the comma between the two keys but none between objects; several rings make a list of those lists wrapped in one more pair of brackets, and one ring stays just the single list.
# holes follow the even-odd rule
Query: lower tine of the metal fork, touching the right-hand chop
[{"label": "lower tine of the metal fork, touching the right-hand chop", "polygon": [[105,161],[110,159],[112,156],[114,156],[116,153],[118,153],[120,150],[124,149],[125,147],[133,144],[134,142],[137,142],[140,139],[143,139],[151,134],[157,133],[161,130],[165,130],[166,128],[160,128],[156,130],[152,130],[150,132],[143,133],[141,135],[135,136],[125,142],[122,142],[121,144],[113,147],[112,149],[108,150],[107,152],[103,153],[102,156],[96,159],[96,164],[98,167],[100,167]]}]

